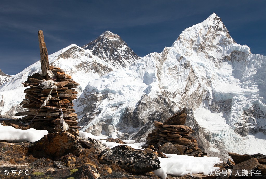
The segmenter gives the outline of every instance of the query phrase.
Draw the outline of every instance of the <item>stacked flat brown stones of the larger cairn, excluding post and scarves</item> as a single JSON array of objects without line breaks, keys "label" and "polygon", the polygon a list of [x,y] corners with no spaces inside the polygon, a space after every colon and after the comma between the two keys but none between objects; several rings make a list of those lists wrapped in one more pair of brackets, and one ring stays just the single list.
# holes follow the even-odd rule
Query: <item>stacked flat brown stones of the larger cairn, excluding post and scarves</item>
[{"label": "stacked flat brown stones of the larger cairn, excluding post and scarves", "polygon": [[[52,79],[49,79],[48,75],[41,76],[41,74],[35,73],[32,76],[28,76],[27,81],[22,83],[25,87],[30,86],[30,88],[24,90],[24,93],[26,93],[25,99],[23,99],[20,103],[20,105],[27,108],[28,111],[19,112],[15,115],[26,115],[22,117],[22,121],[25,123],[29,123],[33,119],[32,123],[47,121],[47,124],[51,125],[51,127],[55,127],[57,125],[62,126],[59,118],[61,115],[61,105],[64,120],[68,124],[69,128],[80,128],[77,126],[78,118],[77,114],[75,114],[75,110],[73,109],[72,102],[72,100],[77,99],[78,92],[75,88],[77,88],[77,85],[79,84],[73,81],[70,75],[65,74],[64,70],[55,68],[53,65],[49,68],[54,74]],[[42,89],[38,86],[47,80],[55,81],[57,92],[55,88],[53,88],[53,90],[52,88]],[[51,90],[51,99],[46,102],[44,107],[41,107]]]}]

